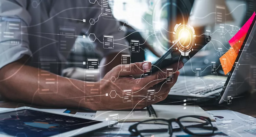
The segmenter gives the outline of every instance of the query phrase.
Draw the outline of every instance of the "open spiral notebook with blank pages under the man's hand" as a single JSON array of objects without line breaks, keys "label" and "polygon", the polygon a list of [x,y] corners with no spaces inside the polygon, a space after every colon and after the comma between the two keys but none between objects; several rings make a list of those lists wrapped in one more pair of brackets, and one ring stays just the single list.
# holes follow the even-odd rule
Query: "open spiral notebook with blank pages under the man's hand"
[{"label": "open spiral notebook with blank pages under the man's hand", "polygon": [[199,106],[150,105],[135,111],[97,111],[95,118],[110,119],[118,114],[119,122],[139,122],[148,119],[171,119],[188,115],[205,116],[215,121]]}]

